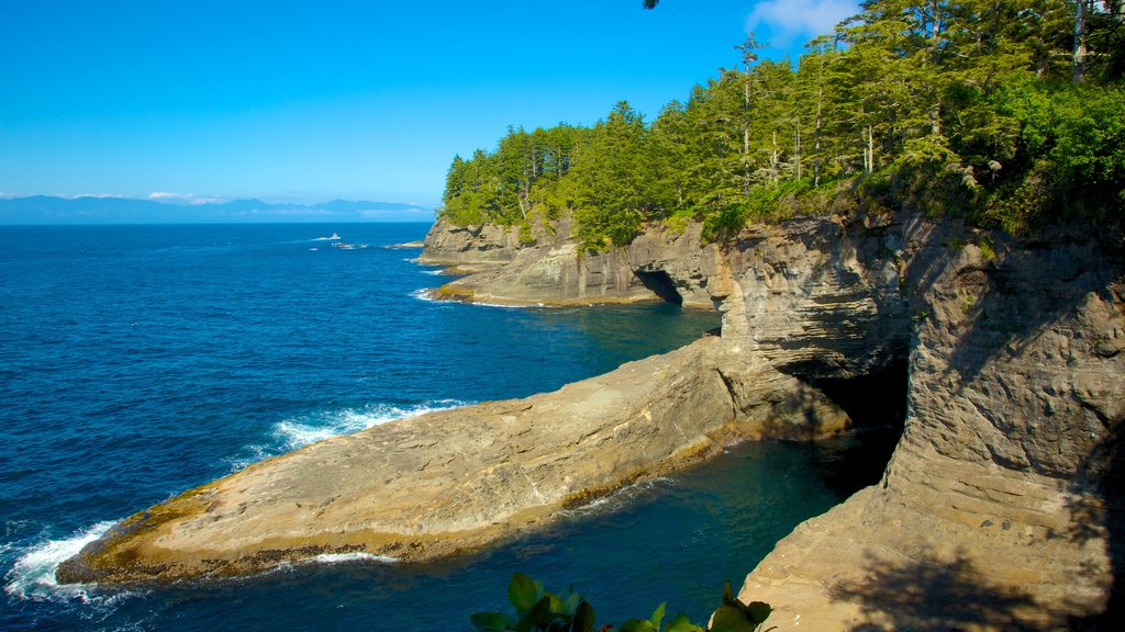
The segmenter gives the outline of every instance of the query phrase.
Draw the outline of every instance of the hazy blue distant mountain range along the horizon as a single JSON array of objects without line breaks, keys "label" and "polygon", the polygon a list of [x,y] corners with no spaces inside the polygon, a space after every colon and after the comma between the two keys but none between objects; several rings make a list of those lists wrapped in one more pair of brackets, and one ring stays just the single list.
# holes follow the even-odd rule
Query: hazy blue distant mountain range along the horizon
[{"label": "hazy blue distant mountain range along the horizon", "polygon": [[332,200],[315,205],[258,199],[176,204],[153,199],[30,196],[0,198],[0,224],[228,224],[270,222],[429,222],[433,209],[400,202]]}]

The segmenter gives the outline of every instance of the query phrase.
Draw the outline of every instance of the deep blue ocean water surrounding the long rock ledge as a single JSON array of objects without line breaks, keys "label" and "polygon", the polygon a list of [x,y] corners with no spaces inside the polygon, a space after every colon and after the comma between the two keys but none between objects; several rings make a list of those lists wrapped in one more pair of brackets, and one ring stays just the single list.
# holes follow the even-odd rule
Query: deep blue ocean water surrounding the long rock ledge
[{"label": "deep blue ocean water surrounding the long rock ledge", "polygon": [[[352,560],[172,586],[60,587],[116,520],[388,419],[551,390],[718,325],[670,305],[418,298],[423,224],[0,227],[0,630],[466,630],[511,574],[600,621],[704,619],[800,521],[878,477],[854,441],[745,444],[424,566]],[[368,247],[340,250],[339,232]],[[885,461],[883,461],[885,462]],[[865,467],[864,467],[865,466]]]}]

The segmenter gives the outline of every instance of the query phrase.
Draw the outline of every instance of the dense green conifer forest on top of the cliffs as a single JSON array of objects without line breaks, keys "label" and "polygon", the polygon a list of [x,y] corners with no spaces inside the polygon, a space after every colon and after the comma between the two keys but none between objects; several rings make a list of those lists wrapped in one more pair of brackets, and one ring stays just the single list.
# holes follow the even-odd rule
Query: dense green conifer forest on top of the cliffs
[{"label": "dense green conifer forest on top of the cliffs", "polygon": [[[656,2],[645,2],[646,7]],[[1019,233],[1125,218],[1125,0],[868,0],[796,64],[759,58],[651,121],[510,128],[453,159],[441,216],[570,216],[588,249],[648,222],[747,222],[856,205],[956,214]]]}]

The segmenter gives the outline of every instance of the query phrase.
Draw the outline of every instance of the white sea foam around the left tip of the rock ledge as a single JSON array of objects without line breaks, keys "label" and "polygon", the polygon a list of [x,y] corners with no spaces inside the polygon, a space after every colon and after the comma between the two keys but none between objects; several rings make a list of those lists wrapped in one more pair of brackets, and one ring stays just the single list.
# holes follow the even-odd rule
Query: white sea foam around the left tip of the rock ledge
[{"label": "white sea foam around the left tip of the rock ledge", "polygon": [[69,538],[47,540],[33,544],[16,559],[11,570],[4,575],[4,593],[32,601],[81,602],[99,606],[111,606],[135,593],[119,592],[92,595],[88,585],[60,585],[55,579],[58,565],[72,558],[83,547],[101,538],[116,521],[98,524],[78,531]]}]

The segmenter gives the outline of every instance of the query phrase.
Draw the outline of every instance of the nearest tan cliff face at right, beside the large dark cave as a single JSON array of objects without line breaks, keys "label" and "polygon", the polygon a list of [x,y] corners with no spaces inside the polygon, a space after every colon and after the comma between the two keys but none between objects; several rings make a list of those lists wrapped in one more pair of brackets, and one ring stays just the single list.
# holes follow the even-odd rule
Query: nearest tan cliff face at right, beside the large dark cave
[{"label": "nearest tan cliff face at right, beside the large dark cave", "polygon": [[778,543],[742,596],[777,605],[783,630],[1091,624],[1125,541],[1122,244],[901,234],[902,440],[881,485]]}]

